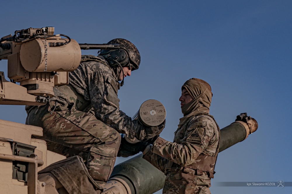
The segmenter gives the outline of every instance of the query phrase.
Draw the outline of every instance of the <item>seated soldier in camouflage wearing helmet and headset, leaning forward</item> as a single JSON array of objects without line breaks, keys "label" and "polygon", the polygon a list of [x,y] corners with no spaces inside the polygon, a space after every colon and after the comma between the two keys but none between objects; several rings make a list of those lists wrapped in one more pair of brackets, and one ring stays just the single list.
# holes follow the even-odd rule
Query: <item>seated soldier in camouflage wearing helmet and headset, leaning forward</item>
[{"label": "seated soldier in camouflage wearing helmet and headset, leaning forward", "polygon": [[[124,77],[139,68],[140,53],[128,40],[116,38],[119,50],[83,55],[79,67],[69,73],[69,84],[55,87],[47,105],[26,107],[27,124],[44,129],[48,150],[67,157],[79,155],[102,192],[119,151],[121,135],[147,140],[164,128],[147,127],[119,109],[118,89]],[[119,83],[121,81],[121,83]],[[121,154],[120,154],[121,155]]]}]

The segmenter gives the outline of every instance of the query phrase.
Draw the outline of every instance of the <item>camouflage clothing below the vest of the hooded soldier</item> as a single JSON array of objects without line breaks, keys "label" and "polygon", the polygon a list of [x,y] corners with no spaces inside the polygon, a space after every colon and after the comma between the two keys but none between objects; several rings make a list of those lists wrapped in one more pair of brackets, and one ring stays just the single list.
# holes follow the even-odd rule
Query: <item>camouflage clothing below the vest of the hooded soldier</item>
[{"label": "camouflage clothing below the vest of the hooded soldier", "polygon": [[209,189],[211,180],[206,172],[202,175],[195,174],[195,170],[186,167],[168,171],[163,194],[211,194]]}]

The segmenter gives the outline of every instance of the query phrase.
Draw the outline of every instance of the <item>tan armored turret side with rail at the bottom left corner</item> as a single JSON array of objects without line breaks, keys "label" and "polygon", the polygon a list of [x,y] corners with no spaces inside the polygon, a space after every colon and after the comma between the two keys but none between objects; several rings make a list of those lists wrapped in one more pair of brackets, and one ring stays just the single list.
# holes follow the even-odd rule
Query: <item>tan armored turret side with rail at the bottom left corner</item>
[{"label": "tan armored turret side with rail at the bottom left corner", "polygon": [[[45,193],[45,184],[38,181],[37,172],[66,157],[48,151],[44,140],[31,138],[32,135],[43,135],[40,127],[0,120],[0,134],[0,193]],[[18,142],[17,145],[28,144],[36,148],[31,157],[18,156],[13,154],[11,142]],[[13,161],[28,163],[27,182],[13,178]]]}]

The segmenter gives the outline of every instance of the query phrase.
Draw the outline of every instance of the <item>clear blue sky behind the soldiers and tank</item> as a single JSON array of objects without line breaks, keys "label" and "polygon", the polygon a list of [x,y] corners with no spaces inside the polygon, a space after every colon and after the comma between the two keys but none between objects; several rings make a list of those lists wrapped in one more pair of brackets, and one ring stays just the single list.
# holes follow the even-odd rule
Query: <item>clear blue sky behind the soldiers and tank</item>
[{"label": "clear blue sky behind the soldiers and tank", "polygon": [[[259,124],[246,140],[219,154],[211,183],[291,182],[291,10],[292,1],[2,0],[0,36],[52,26],[78,43],[130,40],[141,65],[119,90],[122,111],[133,116],[145,100],[159,100],[167,111],[161,137],[172,141],[182,117],[182,84],[192,77],[206,80],[213,91],[211,114],[221,128],[242,112]],[[7,72],[6,60],[0,70]],[[0,119],[25,123],[25,118],[23,106],[1,105]],[[284,194],[292,187],[211,191]]]}]

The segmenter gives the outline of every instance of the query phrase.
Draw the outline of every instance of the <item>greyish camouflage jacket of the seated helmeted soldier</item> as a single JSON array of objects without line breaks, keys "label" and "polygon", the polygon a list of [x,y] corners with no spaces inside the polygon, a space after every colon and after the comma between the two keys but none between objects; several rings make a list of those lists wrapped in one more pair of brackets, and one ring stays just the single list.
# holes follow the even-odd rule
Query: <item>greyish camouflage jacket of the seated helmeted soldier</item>
[{"label": "greyish camouflage jacket of the seated helmeted soldier", "polygon": [[138,124],[119,109],[119,82],[103,57],[83,55],[69,78],[69,85],[54,88],[55,97],[51,101],[62,105],[74,103],[75,109],[83,112],[92,110],[98,120],[134,137]]}]

